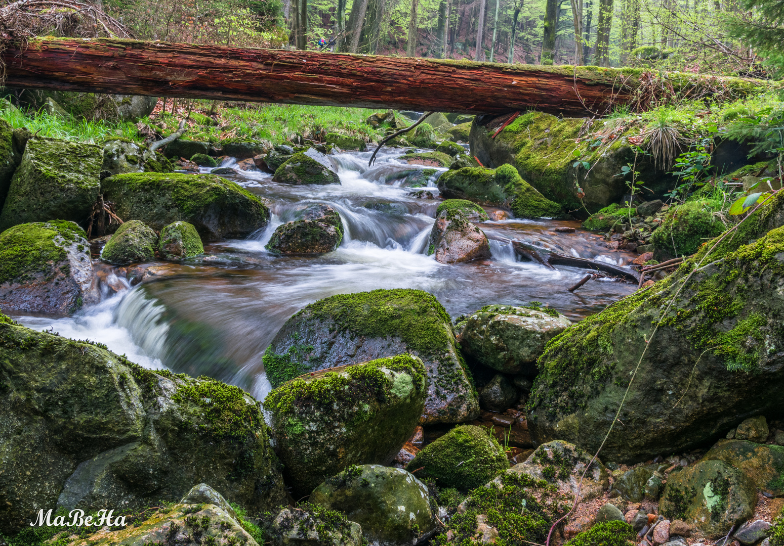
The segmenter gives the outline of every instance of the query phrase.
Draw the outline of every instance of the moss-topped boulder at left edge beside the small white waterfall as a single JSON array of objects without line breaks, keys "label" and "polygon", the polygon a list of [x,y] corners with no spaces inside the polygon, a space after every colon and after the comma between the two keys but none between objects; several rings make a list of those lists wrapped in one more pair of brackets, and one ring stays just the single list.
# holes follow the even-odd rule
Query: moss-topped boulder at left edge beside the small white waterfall
[{"label": "moss-topped boulder at left edge beside the small white waterfall", "polygon": [[19,224],[0,233],[0,308],[66,315],[99,297],[87,235],[74,222]]}]

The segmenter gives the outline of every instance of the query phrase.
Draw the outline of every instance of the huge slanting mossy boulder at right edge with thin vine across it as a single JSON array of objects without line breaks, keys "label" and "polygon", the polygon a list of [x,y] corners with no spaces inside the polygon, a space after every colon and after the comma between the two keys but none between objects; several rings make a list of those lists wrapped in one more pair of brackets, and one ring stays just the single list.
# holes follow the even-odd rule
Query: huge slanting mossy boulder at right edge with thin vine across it
[{"label": "huge slanting mossy boulder at right edge with thin vine across it", "polygon": [[784,228],[765,232],[782,224],[784,201],[773,197],[670,277],[551,340],[529,400],[534,438],[597,449],[634,370],[626,426],[603,448],[615,461],[681,453],[724,436],[739,416],[779,411]]}]

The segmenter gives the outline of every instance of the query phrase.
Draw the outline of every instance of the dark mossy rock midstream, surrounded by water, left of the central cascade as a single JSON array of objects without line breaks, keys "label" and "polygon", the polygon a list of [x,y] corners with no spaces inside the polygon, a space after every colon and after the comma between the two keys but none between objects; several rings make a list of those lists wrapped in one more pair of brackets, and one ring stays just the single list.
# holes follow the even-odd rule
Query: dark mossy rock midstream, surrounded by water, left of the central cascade
[{"label": "dark mossy rock midstream, surrounded by water, left of the central cascade", "polygon": [[301,219],[278,226],[267,250],[277,254],[325,254],[336,250],[342,240],[339,213],[322,203],[307,208]]}]

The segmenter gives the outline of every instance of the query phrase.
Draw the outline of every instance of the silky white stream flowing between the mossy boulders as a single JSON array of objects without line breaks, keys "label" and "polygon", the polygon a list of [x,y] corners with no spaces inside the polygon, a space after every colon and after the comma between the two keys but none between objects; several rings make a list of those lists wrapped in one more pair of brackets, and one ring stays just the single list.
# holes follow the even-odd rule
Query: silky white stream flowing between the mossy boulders
[{"label": "silky white stream flowing between the mossy boulders", "polygon": [[[37,330],[103,342],[145,367],[167,367],[194,377],[209,375],[241,386],[259,399],[270,389],[262,356],[285,320],[308,303],[330,295],[376,288],[418,288],[434,294],[456,317],[492,303],[536,301],[572,320],[630,294],[632,284],[595,280],[574,294],[567,288],[583,269],[548,269],[517,258],[509,239],[582,258],[628,264],[635,255],[608,251],[601,237],[579,230],[579,222],[502,219],[482,222],[491,239],[492,258],[445,265],[426,248],[440,201],[412,195],[437,195],[430,187],[408,188],[423,167],[405,165],[401,150],[384,149],[368,168],[370,152],[335,156],[340,184],[286,186],[262,172],[231,176],[267,199],[272,220],[266,230],[245,240],[205,246],[205,254],[182,263],[161,262],[158,277],[136,287],[124,269],[103,267],[103,300],[74,316],[53,319],[14,316]],[[231,167],[234,160],[224,161]],[[209,169],[204,169],[205,172]],[[438,169],[444,171],[445,169]],[[296,219],[308,204],[330,204],[343,219],[345,237],[327,255],[277,256],[264,248],[274,229]],[[487,208],[489,212],[497,209]],[[508,216],[508,215],[507,215]],[[575,233],[554,231],[576,227]]]}]

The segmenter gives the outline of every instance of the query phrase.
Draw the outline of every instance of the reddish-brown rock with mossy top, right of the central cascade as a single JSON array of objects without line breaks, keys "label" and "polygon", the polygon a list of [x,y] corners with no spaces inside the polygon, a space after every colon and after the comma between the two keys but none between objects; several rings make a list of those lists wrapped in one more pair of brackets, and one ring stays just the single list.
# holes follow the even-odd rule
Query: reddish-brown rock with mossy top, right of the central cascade
[{"label": "reddish-brown rock with mossy top, right of the central cascade", "polygon": [[433,229],[430,230],[427,254],[434,254],[436,261],[440,263],[489,258],[490,242],[485,232],[470,221],[476,217],[477,213],[469,208],[442,208],[436,215]]}]

